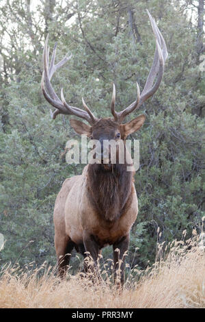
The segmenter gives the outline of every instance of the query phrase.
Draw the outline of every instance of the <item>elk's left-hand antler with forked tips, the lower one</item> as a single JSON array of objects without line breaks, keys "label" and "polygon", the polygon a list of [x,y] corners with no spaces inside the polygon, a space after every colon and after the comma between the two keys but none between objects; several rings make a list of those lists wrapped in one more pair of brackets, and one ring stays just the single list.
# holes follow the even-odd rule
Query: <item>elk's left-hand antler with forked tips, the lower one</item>
[{"label": "elk's left-hand antler with forked tips, the lower one", "polygon": [[[55,53],[57,48],[57,42],[55,42],[55,46],[54,46],[53,54],[51,58],[51,64],[49,66],[48,40],[49,40],[49,35],[46,37],[44,51],[43,51],[44,71],[42,73],[41,88],[45,99],[55,107],[55,111],[51,112],[52,118],[55,119],[57,114],[72,114],[72,115],[81,117],[81,119],[85,119],[88,123],[93,125],[96,121],[98,121],[98,119],[96,119],[94,114],[92,114],[90,109],[85,104],[85,101],[83,98],[82,98],[83,107],[85,108],[86,111],[81,110],[80,108],[75,108],[74,106],[70,106],[68,103],[66,103],[66,100],[64,98],[63,88],[61,88],[61,99],[59,99],[59,97],[57,97],[57,95],[55,94],[55,90],[53,90],[53,87],[50,82],[51,78],[55,73],[55,71],[57,71],[57,69],[59,69],[61,66],[64,66],[64,64],[66,64],[66,62],[70,60],[72,55],[70,55],[69,57],[67,57],[66,55],[63,60],[61,60],[55,65],[54,64]],[[46,84],[46,88],[44,86],[44,82]]]}]

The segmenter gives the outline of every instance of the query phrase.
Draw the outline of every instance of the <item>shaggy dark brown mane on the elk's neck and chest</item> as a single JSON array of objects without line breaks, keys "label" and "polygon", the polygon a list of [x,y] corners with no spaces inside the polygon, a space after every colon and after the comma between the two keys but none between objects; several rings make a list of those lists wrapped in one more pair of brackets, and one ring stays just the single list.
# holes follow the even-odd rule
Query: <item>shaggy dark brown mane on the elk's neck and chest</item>
[{"label": "shaggy dark brown mane on the elk's neck and chest", "polygon": [[96,212],[105,221],[115,221],[132,199],[133,175],[127,164],[89,164],[87,170],[88,197]]}]

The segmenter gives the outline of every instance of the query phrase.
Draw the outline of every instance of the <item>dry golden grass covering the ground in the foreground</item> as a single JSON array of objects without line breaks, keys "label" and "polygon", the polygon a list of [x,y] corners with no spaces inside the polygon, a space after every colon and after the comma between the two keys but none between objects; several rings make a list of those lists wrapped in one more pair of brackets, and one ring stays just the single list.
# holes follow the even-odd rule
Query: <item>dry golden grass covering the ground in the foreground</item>
[{"label": "dry golden grass covering the ground in the foreground", "polygon": [[106,271],[106,282],[92,284],[69,274],[67,280],[59,282],[51,268],[4,268],[0,308],[205,308],[202,241],[193,236],[167,246],[158,245],[158,261],[141,272],[141,277],[137,274],[138,281],[133,277],[137,269],[130,271],[121,293]]}]

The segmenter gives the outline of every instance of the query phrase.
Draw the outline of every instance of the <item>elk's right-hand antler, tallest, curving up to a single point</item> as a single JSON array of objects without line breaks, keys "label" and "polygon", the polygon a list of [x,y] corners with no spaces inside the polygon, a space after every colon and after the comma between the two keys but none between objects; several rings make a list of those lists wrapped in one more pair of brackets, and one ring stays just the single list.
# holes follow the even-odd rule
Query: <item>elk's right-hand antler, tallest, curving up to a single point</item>
[{"label": "elk's right-hand antler, tallest, curving up to a single point", "polygon": [[[157,27],[156,22],[154,21],[154,18],[152,18],[150,12],[148,12],[148,16],[150,18],[150,23],[152,25],[154,36],[156,37],[156,49],[154,53],[154,60],[141,95],[139,91],[139,86],[137,84],[136,101],[134,101],[130,106],[128,106],[128,108],[125,108],[120,112],[115,111],[115,84],[113,84],[113,95],[111,99],[111,113],[113,114],[115,121],[119,123],[121,123],[128,114],[133,112],[135,109],[139,108],[139,106],[141,106],[141,104],[144,101],[146,101],[150,96],[154,95],[156,90],[158,90],[159,85],[161,83],[161,79],[163,77],[165,60],[167,59],[167,55],[168,55],[167,47],[165,44],[165,40],[161,32],[159,31],[159,28]],[[157,75],[156,82],[153,85],[156,75]]]}]

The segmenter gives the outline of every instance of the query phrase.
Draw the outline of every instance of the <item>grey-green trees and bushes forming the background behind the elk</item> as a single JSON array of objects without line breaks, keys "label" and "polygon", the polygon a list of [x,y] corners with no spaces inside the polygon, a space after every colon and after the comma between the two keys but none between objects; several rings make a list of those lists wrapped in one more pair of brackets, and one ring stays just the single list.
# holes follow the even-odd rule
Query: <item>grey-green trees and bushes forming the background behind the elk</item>
[{"label": "grey-green trees and bushes forming the background behind the elk", "polygon": [[[0,233],[6,241],[0,266],[55,264],[55,197],[64,179],[83,169],[66,164],[66,141],[79,139],[69,117],[53,121],[40,90],[46,35],[51,49],[58,40],[57,60],[73,55],[53,77],[56,92],[64,87],[66,101],[80,108],[83,96],[96,116],[108,117],[112,82],[117,110],[135,100],[136,81],[141,90],[146,82],[155,49],[146,9],[159,25],[169,58],[159,90],[134,113],[145,113],[146,123],[132,136],[140,140],[139,215],[128,262],[144,268],[155,259],[157,238],[167,244],[184,230],[188,237],[193,228],[201,232],[204,1],[1,0]],[[111,258],[111,248],[104,256]],[[73,258],[72,265],[77,262]]]}]

